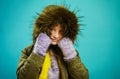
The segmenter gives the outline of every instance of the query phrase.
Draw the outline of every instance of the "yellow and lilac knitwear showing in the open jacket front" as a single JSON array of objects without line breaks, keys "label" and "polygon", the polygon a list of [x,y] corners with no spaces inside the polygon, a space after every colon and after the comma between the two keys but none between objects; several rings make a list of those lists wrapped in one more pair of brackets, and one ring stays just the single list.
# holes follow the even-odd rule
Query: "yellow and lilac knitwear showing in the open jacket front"
[{"label": "yellow and lilac knitwear showing in the open jacket front", "polygon": [[56,57],[50,53],[50,51],[46,53],[39,79],[59,79],[58,61]]}]

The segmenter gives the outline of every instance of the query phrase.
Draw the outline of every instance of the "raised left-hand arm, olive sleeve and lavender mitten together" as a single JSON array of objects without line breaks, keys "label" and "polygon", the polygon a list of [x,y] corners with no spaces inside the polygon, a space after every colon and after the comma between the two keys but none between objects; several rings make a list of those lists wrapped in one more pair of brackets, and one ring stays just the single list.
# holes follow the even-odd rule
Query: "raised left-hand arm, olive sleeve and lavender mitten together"
[{"label": "raised left-hand arm, olive sleeve and lavender mitten together", "polygon": [[[50,43],[51,39],[46,34],[40,33],[33,50],[28,47],[22,51],[17,69],[17,77],[19,79],[36,79],[39,77],[44,57]],[[29,53],[31,54],[28,55]]]}]

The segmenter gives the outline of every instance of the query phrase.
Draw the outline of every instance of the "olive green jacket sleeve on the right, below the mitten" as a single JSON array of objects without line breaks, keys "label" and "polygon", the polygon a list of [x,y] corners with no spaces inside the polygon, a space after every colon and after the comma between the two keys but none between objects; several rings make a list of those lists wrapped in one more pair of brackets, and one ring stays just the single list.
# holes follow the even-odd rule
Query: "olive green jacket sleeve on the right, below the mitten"
[{"label": "olive green jacket sleeve on the right, below the mitten", "polygon": [[89,74],[87,68],[81,62],[80,57],[76,56],[67,62],[68,73],[72,79],[88,79]]}]

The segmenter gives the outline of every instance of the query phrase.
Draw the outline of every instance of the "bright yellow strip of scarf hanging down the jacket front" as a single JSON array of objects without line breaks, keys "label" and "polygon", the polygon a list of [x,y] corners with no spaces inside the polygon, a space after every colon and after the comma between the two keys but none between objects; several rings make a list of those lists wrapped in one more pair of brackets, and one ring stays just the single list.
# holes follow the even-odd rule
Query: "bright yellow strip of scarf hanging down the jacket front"
[{"label": "bright yellow strip of scarf hanging down the jacket front", "polygon": [[48,71],[49,71],[50,66],[51,66],[50,53],[47,52],[39,79],[48,79]]}]

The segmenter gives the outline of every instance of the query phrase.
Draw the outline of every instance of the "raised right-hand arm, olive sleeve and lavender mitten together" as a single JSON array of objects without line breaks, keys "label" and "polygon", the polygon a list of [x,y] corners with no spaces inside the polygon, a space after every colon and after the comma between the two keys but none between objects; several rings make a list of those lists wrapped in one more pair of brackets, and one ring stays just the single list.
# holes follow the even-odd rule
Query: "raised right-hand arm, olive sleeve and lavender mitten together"
[{"label": "raised right-hand arm, olive sleeve and lavender mitten together", "polygon": [[72,41],[65,37],[59,41],[58,46],[63,52],[63,59],[67,63],[69,76],[72,79],[88,79],[88,71],[77,55]]}]

